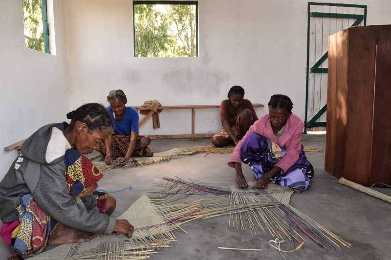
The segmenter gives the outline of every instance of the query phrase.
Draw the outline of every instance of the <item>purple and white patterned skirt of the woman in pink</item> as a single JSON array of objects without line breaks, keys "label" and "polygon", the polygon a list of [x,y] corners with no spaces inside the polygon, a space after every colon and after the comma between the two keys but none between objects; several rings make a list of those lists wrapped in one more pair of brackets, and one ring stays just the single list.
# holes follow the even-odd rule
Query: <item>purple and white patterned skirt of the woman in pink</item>
[{"label": "purple and white patterned skirt of the woman in pink", "polygon": [[[282,149],[282,156],[285,150]],[[274,167],[277,162],[268,145],[268,139],[257,134],[251,133],[240,149],[240,158],[243,163],[250,165],[254,173],[255,179],[261,178],[263,173],[268,172]],[[314,168],[305,157],[304,149],[300,153],[297,160],[286,172],[279,172],[273,176],[270,181],[280,184],[283,187],[305,191],[311,178],[314,176]]]}]

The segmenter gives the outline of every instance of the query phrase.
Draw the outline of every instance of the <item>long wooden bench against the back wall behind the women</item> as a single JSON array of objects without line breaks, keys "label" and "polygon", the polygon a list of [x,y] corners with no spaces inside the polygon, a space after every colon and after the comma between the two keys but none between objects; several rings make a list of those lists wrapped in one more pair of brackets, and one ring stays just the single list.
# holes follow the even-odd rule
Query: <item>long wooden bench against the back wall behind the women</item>
[{"label": "long wooden bench against the back wall behind the women", "polygon": [[[264,107],[263,104],[255,103],[253,106],[256,107]],[[185,135],[152,135],[149,136],[152,139],[170,139],[170,138],[192,138],[194,141],[195,138],[204,138],[204,137],[212,137],[214,134],[195,134],[195,109],[210,109],[210,108],[220,108],[220,105],[182,105],[182,106],[159,106],[158,110],[165,109],[191,109],[192,110],[192,133]],[[134,109],[138,111],[140,110],[149,110],[146,107],[135,106]],[[155,112],[150,111],[139,123],[138,126],[141,127],[148,119],[152,117]]]}]

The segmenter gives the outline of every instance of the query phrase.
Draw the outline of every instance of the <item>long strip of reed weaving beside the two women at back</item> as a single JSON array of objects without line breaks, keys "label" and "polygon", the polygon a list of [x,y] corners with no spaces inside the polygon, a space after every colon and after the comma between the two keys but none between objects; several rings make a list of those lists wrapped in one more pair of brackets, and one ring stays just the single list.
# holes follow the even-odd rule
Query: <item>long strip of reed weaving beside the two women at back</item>
[{"label": "long strip of reed weaving beside the two women at back", "polygon": [[[225,147],[216,147],[214,145],[207,146],[196,146],[189,148],[173,148],[171,150],[155,153],[153,157],[134,157],[133,159],[137,160],[137,163],[132,161],[127,161],[119,164],[107,165],[104,162],[94,162],[95,166],[100,171],[109,171],[111,169],[126,169],[137,167],[141,165],[161,163],[164,161],[169,161],[174,158],[180,158],[185,156],[194,155],[197,153],[206,153],[206,154],[229,154],[234,151],[234,146],[225,146]],[[315,149],[315,148],[304,148],[305,152],[325,152],[324,149]]]}]

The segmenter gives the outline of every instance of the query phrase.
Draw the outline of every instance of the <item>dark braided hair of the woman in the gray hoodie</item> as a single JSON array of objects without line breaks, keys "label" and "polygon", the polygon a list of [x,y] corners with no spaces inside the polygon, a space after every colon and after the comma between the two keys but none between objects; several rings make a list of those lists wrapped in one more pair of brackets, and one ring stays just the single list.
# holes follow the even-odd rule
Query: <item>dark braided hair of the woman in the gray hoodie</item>
[{"label": "dark braided hair of the woman in the gray hoodie", "polygon": [[107,112],[103,105],[98,103],[84,104],[78,109],[66,114],[66,118],[71,120],[69,125],[71,129],[75,126],[76,121],[85,123],[89,130],[113,128],[109,112]]}]

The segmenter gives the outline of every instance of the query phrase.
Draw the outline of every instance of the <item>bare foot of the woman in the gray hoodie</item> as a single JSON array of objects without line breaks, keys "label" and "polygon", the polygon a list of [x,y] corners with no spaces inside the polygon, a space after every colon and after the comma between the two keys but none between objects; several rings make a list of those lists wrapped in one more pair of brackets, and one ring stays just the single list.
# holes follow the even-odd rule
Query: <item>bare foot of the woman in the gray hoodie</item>
[{"label": "bare foot of the woman in the gray hoodie", "polygon": [[56,229],[49,236],[47,244],[60,245],[70,243],[88,242],[96,238],[96,234],[88,233],[85,231],[77,230],[62,223],[58,223]]}]

